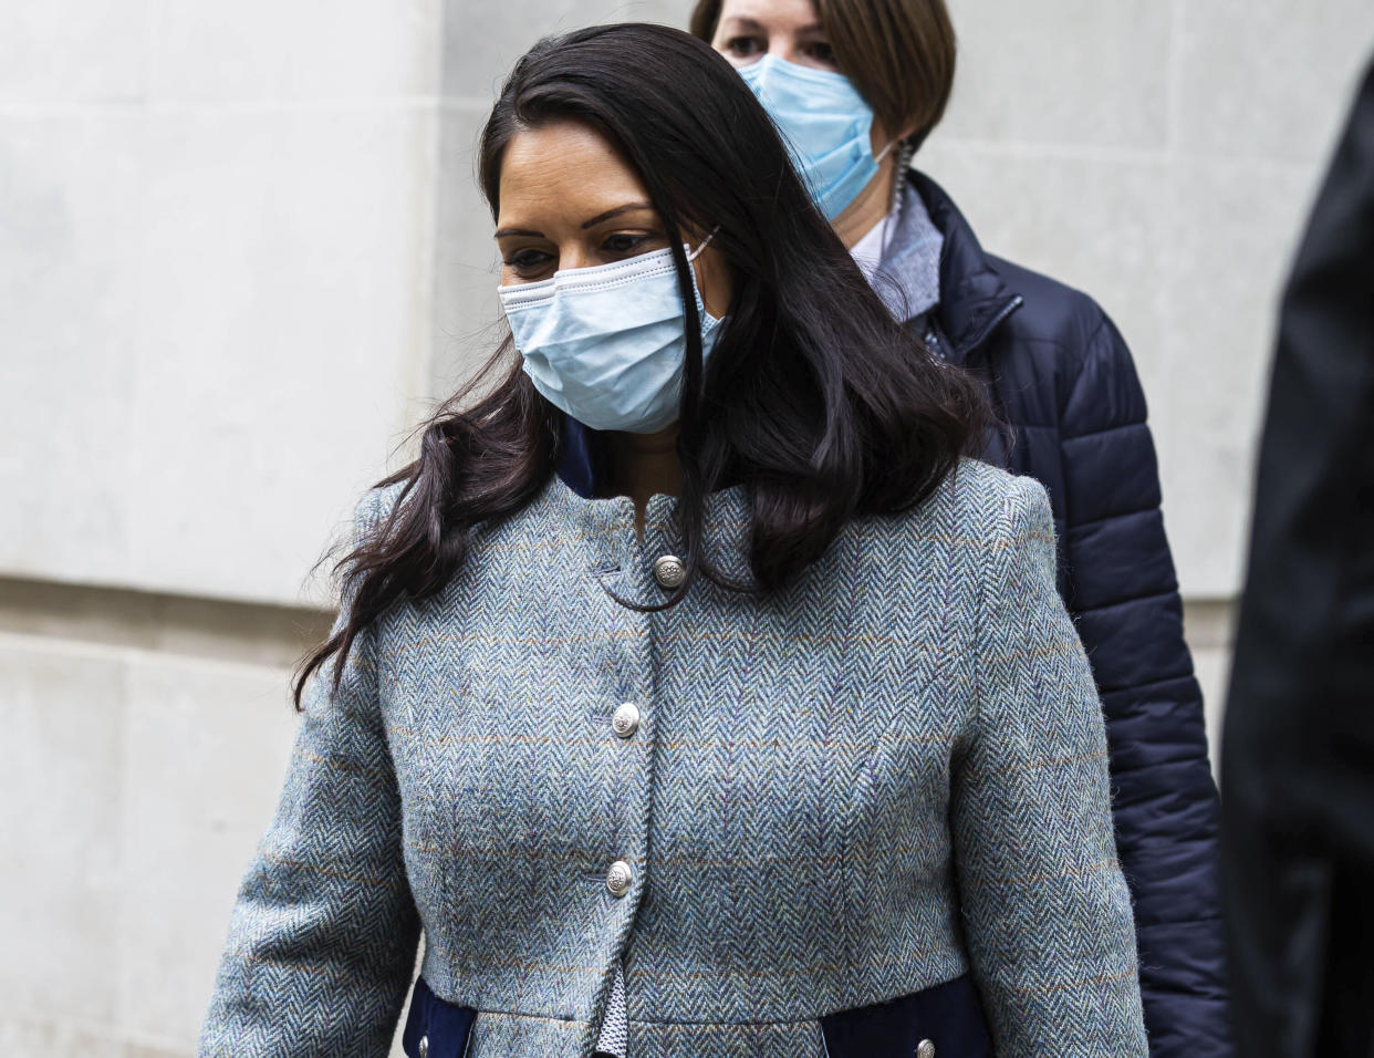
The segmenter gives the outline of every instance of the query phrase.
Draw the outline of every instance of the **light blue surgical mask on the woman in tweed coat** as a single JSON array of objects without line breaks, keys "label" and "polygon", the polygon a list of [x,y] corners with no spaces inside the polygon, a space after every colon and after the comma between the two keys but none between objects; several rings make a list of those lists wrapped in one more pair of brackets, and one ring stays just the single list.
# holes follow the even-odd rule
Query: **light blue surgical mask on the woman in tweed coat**
[{"label": "light blue surgical mask on the woman in tweed coat", "polygon": [[[695,273],[691,283],[705,364],[720,320],[706,315]],[[654,433],[677,420],[687,313],[672,250],[497,290],[525,374],[551,404],[594,430]]]}]

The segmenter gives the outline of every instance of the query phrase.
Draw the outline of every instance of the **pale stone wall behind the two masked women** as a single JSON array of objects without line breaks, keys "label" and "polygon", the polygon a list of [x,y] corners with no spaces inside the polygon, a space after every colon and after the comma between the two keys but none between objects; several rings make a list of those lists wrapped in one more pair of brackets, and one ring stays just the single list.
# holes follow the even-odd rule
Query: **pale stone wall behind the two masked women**
[{"label": "pale stone wall behind the two masked women", "polygon": [[[493,87],[687,5],[0,7],[0,1053],[192,1051],[309,572],[489,348]],[[1215,719],[1274,295],[1374,8],[952,8],[921,164],[1132,342]]]}]

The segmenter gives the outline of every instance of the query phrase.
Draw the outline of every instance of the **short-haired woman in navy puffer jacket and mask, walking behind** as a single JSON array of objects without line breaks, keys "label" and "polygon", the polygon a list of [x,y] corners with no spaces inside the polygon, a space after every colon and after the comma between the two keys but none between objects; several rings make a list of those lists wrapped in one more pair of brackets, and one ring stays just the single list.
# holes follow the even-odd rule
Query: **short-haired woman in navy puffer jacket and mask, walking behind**
[{"label": "short-haired woman in navy puffer jacket and mask, walking behind", "polygon": [[889,311],[982,379],[1009,427],[985,458],[1048,491],[1059,591],[1106,714],[1150,1050],[1230,1055],[1216,787],[1125,342],[1085,294],[985,253],[910,169],[954,80],[944,0],[701,0],[691,30],[769,110]]}]

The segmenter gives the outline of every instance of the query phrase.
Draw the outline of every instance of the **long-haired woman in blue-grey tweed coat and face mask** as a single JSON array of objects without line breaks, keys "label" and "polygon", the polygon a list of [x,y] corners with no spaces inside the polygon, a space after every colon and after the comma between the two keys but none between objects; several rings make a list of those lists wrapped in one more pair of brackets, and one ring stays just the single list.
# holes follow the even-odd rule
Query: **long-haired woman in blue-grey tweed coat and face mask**
[{"label": "long-haired woman in blue-grey tweed coat and face mask", "polygon": [[419,1058],[1143,1055],[1092,675],[973,383],[686,34],[537,45],[481,175],[519,357],[359,508],[201,1054],[386,1054],[423,930]]}]

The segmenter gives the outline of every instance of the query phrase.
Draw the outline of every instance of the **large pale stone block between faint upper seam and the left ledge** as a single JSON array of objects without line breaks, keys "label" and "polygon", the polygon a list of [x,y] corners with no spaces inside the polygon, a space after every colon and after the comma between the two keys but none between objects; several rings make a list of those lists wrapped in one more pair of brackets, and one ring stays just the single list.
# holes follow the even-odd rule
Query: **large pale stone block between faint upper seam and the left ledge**
[{"label": "large pale stone block between faint upper seam and the left ledge", "polygon": [[418,418],[434,139],[433,107],[0,117],[0,569],[295,602]]}]

